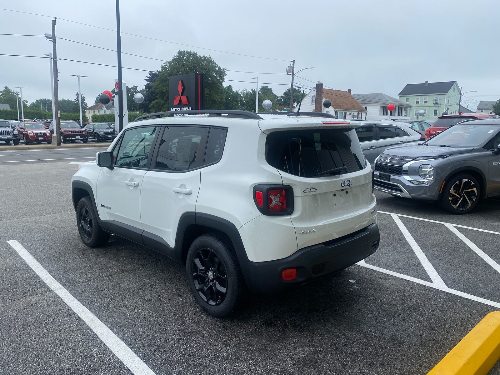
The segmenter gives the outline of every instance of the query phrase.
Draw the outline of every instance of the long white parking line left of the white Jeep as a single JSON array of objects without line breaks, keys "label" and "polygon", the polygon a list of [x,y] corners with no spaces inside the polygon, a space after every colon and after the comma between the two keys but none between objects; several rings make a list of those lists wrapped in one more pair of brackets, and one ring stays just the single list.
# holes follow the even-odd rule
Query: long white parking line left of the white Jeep
[{"label": "long white parking line left of the white Jeep", "polygon": [[45,268],[15,239],[7,243],[35,271],[35,273],[52,289],[106,344],[133,374],[155,375],[154,372],[121,341],[102,321],[71,295]]}]

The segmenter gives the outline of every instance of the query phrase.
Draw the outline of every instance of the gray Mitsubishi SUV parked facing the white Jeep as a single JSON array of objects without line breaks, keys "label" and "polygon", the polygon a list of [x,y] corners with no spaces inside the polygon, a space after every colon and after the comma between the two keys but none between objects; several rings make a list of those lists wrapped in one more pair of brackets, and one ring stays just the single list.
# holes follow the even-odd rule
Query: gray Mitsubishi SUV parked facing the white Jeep
[{"label": "gray Mitsubishi SUV parked facing the white Jeep", "polygon": [[480,198],[500,196],[499,144],[500,119],[457,123],[426,142],[385,149],[375,159],[374,187],[469,213]]}]

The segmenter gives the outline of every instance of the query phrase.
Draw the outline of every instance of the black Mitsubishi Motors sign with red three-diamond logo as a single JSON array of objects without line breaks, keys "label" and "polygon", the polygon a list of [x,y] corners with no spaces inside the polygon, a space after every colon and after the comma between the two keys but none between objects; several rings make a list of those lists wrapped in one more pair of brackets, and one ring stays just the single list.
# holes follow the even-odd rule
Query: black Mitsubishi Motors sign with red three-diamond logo
[{"label": "black Mitsubishi Motors sign with red three-diamond logo", "polygon": [[[189,73],[168,77],[170,110],[204,109],[204,74]],[[182,114],[179,114],[181,116]]]}]

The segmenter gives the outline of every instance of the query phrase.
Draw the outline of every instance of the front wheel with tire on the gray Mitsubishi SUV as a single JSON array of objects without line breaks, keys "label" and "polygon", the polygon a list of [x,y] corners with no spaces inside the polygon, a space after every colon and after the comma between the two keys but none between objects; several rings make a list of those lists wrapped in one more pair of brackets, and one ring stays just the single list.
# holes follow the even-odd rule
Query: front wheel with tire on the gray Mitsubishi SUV
[{"label": "front wheel with tire on the gray Mitsubishi SUV", "polygon": [[462,215],[471,212],[481,196],[477,180],[470,174],[457,174],[446,182],[442,190],[441,204],[451,213]]}]

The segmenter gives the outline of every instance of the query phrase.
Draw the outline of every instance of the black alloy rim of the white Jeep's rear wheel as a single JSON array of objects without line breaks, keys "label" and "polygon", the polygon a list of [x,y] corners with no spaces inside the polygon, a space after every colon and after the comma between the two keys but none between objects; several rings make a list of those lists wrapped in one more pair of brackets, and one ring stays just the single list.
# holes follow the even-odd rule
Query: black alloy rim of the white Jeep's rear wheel
[{"label": "black alloy rim of the white Jeep's rear wheel", "polygon": [[227,294],[227,276],[217,254],[200,248],[192,260],[192,277],[198,295],[211,306],[224,301]]}]

